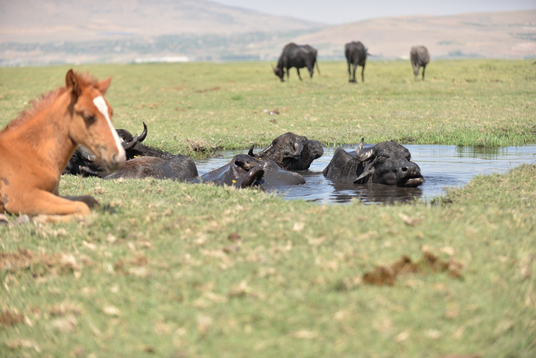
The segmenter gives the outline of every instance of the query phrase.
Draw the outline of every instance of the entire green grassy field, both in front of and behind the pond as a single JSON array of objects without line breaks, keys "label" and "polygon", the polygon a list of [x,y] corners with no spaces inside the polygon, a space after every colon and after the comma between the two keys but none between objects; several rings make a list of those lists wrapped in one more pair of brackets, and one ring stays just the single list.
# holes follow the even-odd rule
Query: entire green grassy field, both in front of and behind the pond
[{"label": "entire green grassy field, both in front of and behind the pond", "polygon": [[[147,143],[194,158],[286,131],[536,143],[530,61],[437,61],[426,81],[409,63],[370,62],[364,84],[347,83],[344,63],[320,66],[288,83],[268,63],[77,70],[114,76],[118,128],[145,121]],[[0,69],[0,126],[67,70]],[[0,227],[0,357],[536,356],[536,164],[405,205],[73,176],[60,190],[101,207]],[[414,265],[395,276],[403,256]]]}]

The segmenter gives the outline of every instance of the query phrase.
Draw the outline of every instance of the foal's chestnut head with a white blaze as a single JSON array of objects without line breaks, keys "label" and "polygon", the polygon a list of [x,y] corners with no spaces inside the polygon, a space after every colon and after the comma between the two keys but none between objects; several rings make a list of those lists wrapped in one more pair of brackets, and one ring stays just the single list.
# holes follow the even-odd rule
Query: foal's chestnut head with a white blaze
[{"label": "foal's chestnut head with a white blaze", "polygon": [[126,160],[121,139],[111,124],[111,107],[104,98],[111,77],[94,81],[69,70],[65,76],[71,94],[72,121],[69,135],[75,144],[88,147],[107,170],[115,170]]}]

